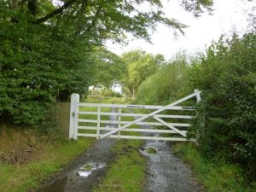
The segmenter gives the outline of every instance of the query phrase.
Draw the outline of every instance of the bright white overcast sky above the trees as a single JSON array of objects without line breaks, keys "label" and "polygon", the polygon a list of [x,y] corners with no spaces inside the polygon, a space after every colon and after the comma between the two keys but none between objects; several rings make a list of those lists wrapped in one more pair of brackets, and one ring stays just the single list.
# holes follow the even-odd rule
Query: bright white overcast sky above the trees
[{"label": "bright white overcast sky above the trees", "polygon": [[157,26],[157,32],[152,36],[153,44],[143,40],[133,40],[122,47],[108,42],[108,49],[121,55],[131,49],[143,49],[152,54],[165,55],[166,59],[172,58],[177,51],[187,49],[189,53],[204,51],[212,40],[218,40],[221,34],[230,35],[231,32],[243,33],[247,29],[247,13],[256,1],[247,0],[214,0],[213,15],[204,14],[196,19],[191,13],[184,11],[178,5],[178,0],[164,0],[166,16],[175,18],[189,26],[185,35],[174,38],[172,29],[166,26]]}]

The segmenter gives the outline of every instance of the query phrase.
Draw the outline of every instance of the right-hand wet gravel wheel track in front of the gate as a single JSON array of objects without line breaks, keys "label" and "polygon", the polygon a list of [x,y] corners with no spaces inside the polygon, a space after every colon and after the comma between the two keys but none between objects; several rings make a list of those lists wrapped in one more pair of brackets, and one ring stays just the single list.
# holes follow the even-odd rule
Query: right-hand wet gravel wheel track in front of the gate
[{"label": "right-hand wet gravel wheel track in front of the gate", "polygon": [[[155,148],[157,153],[147,154],[146,148]],[[172,153],[167,142],[147,141],[142,153],[148,159],[148,176],[144,192],[196,192],[201,187],[195,183],[192,173],[182,160]]]}]

